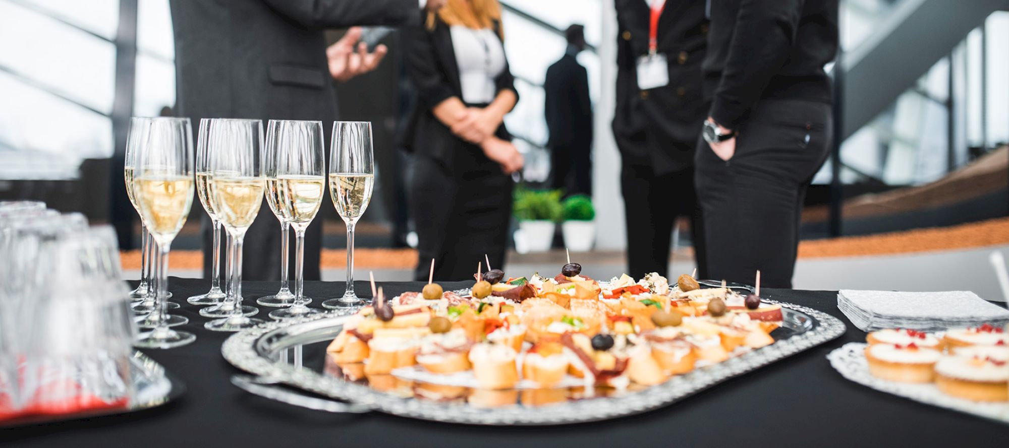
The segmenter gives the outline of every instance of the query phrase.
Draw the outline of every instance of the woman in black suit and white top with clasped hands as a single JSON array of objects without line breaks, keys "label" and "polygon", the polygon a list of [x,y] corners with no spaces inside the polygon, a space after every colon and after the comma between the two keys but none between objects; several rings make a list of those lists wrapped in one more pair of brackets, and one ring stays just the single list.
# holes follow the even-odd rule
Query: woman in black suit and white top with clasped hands
[{"label": "woman in black suit and white top with clasped hands", "polygon": [[420,252],[415,278],[472,277],[484,254],[503,267],[512,174],[523,156],[504,128],[519,99],[504,57],[497,0],[448,0],[403,33],[418,101],[404,132],[414,154],[410,209]]}]

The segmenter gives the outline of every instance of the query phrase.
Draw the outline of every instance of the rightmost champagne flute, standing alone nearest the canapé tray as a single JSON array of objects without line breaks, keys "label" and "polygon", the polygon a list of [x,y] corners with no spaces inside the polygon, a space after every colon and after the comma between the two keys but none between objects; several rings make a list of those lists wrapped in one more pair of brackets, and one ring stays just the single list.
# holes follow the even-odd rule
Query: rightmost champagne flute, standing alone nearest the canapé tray
[{"label": "rightmost champagne flute, standing alone nearest the canap\u00e9 tray", "polygon": [[374,164],[371,160],[371,123],[336,121],[329,160],[329,194],[336,212],[347,225],[347,291],[322,306],[346,310],[364,305],[354,294],[354,225],[371,201]]}]

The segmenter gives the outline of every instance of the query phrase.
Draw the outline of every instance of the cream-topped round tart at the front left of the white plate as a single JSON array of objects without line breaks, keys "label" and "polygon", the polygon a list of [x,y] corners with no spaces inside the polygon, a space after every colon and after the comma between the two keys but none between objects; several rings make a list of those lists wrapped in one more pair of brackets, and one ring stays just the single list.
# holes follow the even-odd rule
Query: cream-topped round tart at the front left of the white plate
[{"label": "cream-topped round tart at the front left of the white plate", "polygon": [[866,347],[869,372],[899,382],[931,382],[932,366],[942,356],[938,350],[908,345],[873,344]]}]

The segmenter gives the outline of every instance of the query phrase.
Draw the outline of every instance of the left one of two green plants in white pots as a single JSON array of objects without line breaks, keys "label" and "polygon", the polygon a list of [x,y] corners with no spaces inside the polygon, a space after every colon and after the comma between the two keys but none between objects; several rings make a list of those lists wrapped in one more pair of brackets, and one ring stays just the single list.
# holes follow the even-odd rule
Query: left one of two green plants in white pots
[{"label": "left one of two green plants in white pots", "polygon": [[517,238],[522,240],[516,242],[517,248],[539,252],[550,250],[556,222],[561,218],[561,192],[517,189],[513,213],[519,220],[519,229],[523,235],[522,238]]}]

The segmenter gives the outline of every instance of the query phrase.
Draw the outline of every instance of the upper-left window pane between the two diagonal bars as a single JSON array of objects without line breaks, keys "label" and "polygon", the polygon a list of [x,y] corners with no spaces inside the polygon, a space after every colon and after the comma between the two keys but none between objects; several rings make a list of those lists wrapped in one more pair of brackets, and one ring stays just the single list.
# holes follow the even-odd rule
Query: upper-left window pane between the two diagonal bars
[{"label": "upper-left window pane between the two diagonal bars", "polygon": [[112,110],[111,42],[8,2],[0,2],[0,42],[16,42],[3,45],[0,66],[103,113]]}]

